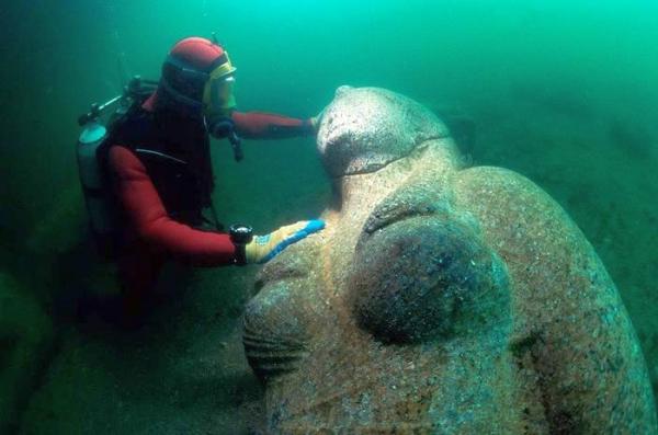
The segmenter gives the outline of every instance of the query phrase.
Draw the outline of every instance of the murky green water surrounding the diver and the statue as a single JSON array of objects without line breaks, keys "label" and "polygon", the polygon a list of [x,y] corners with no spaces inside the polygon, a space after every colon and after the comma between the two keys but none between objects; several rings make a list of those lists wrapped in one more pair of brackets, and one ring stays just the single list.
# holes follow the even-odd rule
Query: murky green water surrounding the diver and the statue
[{"label": "murky green water surrounding the diver and the statue", "polygon": [[[474,164],[529,176],[592,242],[657,391],[656,2],[35,0],[0,9],[0,432],[258,424],[238,328],[256,267],[162,289],[137,334],[66,316],[75,295],[112,287],[84,244],[77,116],[125,76],[157,78],[179,38],[212,32],[238,67],[242,110],[306,117],[352,84],[466,119],[461,146]],[[311,139],[248,141],[240,164],[215,145],[224,221],[264,232],[324,208]]]}]

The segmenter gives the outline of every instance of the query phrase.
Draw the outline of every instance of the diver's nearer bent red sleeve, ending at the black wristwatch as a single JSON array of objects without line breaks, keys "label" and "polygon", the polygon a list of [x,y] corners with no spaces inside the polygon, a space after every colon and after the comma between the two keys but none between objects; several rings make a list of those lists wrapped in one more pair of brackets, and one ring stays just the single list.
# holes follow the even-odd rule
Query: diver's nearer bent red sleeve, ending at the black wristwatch
[{"label": "diver's nearer bent red sleeve, ending at the black wristwatch", "polygon": [[235,245],[228,234],[196,230],[167,215],[146,168],[133,151],[112,147],[109,165],[128,225],[149,247],[195,266],[234,262]]}]

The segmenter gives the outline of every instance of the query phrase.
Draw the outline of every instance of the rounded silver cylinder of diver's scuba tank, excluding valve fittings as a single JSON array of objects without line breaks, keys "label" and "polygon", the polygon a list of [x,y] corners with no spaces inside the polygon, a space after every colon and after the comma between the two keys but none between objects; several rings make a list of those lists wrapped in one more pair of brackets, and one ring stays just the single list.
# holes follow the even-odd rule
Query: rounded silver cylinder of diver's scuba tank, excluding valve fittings
[{"label": "rounded silver cylinder of diver's scuba tank, excluding valve fittings", "polygon": [[80,184],[91,229],[94,237],[101,238],[111,237],[114,230],[110,195],[104,186],[102,170],[97,159],[97,151],[106,137],[107,129],[98,119],[92,119],[84,125],[76,147]]}]

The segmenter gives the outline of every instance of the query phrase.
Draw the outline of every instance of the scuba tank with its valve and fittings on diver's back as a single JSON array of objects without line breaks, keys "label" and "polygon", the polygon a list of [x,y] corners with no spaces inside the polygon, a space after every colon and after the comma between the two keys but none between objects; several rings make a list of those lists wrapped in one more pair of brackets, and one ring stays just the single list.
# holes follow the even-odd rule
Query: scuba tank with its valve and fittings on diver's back
[{"label": "scuba tank with its valve and fittings on diver's back", "polygon": [[[101,168],[98,151],[107,139],[107,129],[120,121],[133,106],[141,102],[156,90],[157,82],[143,80],[135,76],[123,94],[117,95],[104,104],[92,104],[91,110],[78,118],[82,133],[76,145],[78,171],[80,185],[87,205],[91,232],[100,254],[105,259],[112,259],[115,253],[116,227],[114,221],[114,207],[105,174]],[[118,103],[118,107],[112,112],[106,122],[107,127],[101,121],[106,110]]]}]

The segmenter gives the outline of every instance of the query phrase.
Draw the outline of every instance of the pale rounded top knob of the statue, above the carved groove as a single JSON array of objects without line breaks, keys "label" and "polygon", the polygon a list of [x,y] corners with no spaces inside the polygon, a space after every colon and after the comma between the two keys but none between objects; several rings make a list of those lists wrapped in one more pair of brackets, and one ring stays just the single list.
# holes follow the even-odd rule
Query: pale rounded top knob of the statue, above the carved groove
[{"label": "pale rounded top knob of the statue, above the carved groove", "polygon": [[341,87],[325,111],[318,150],[332,176],[353,175],[376,171],[419,144],[447,136],[434,114],[405,96]]}]

